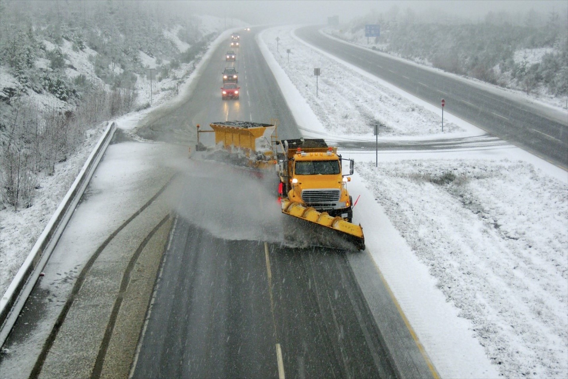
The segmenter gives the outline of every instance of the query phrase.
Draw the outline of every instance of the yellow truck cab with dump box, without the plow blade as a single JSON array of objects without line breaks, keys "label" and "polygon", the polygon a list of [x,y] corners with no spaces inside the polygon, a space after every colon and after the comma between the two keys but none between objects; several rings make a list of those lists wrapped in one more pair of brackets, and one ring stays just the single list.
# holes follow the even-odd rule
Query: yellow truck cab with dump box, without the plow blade
[{"label": "yellow truck cab with dump box, without the plow blade", "polygon": [[[281,195],[351,222],[352,199],[347,182],[348,175],[353,174],[353,160],[343,159],[337,148],[329,147],[323,139],[290,139],[280,143],[285,151],[285,159],[277,166]],[[349,174],[342,172],[343,161],[349,161]]]}]

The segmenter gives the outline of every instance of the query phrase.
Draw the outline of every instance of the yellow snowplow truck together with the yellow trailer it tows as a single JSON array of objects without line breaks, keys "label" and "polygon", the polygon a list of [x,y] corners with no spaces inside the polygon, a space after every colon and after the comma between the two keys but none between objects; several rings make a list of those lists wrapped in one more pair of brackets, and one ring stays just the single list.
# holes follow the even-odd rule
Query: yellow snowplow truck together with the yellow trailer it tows
[{"label": "yellow snowplow truck together with the yellow trailer it tows", "polygon": [[[207,159],[264,171],[277,169],[285,235],[304,246],[346,250],[365,249],[361,225],[351,223],[352,198],[347,191],[353,160],[337,154],[323,139],[278,140],[273,124],[223,121],[197,126],[198,152]],[[202,133],[215,133],[215,145],[206,147]],[[342,162],[349,161],[349,174]]]}]

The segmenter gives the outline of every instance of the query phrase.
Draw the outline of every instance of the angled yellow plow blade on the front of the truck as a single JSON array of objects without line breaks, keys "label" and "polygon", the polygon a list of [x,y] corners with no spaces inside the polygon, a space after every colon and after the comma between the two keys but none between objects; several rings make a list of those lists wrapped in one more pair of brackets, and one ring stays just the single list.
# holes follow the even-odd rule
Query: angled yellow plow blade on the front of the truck
[{"label": "angled yellow plow blade on the front of the truck", "polygon": [[287,220],[285,226],[288,230],[286,236],[294,241],[348,251],[365,249],[361,225],[347,222],[339,216],[332,217],[327,212],[320,213],[312,207],[304,207],[287,199],[282,199],[282,213],[294,216],[294,219]]}]

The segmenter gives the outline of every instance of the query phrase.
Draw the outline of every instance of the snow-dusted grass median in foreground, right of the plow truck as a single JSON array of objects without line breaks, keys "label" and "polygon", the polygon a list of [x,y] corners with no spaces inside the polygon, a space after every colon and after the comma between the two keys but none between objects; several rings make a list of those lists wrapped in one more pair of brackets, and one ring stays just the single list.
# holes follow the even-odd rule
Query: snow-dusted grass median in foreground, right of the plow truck
[{"label": "snow-dusted grass median in foreground, right of the plow truck", "polygon": [[509,160],[357,170],[504,377],[568,377],[568,185]]}]

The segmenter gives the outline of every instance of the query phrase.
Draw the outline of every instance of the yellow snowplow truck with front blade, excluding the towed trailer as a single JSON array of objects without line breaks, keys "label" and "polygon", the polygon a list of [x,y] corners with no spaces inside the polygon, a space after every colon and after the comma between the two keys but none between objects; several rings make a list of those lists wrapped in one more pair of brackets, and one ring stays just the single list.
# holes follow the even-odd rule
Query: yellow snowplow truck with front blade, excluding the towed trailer
[{"label": "yellow snowplow truck with front blade, excluding the towed trailer", "polygon": [[[342,158],[323,139],[278,142],[284,151],[279,156],[285,158],[277,166],[282,212],[323,226],[314,231],[324,245],[365,249],[363,228],[352,223],[353,199],[347,190],[354,161]],[[349,174],[343,174],[343,161],[349,162]]]}]

